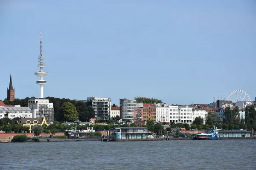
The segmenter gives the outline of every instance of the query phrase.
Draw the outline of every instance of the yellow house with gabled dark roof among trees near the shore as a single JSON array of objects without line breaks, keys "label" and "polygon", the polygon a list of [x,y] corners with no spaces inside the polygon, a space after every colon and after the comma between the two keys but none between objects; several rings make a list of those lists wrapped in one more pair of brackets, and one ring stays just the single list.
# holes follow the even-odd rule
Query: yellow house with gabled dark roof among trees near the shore
[{"label": "yellow house with gabled dark roof among trees near the shore", "polygon": [[49,125],[47,121],[43,118],[14,118],[14,123],[17,125],[22,125],[23,127],[29,127],[29,132],[31,133],[31,129],[34,125]]}]

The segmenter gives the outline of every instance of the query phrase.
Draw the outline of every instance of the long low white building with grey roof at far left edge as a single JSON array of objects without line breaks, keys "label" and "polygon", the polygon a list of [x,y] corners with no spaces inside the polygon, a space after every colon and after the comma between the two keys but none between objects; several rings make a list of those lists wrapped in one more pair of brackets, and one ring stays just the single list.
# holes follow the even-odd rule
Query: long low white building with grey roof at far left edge
[{"label": "long low white building with grey roof at far left edge", "polygon": [[10,119],[15,117],[32,118],[32,110],[29,107],[20,107],[20,105],[11,107],[0,106],[0,119],[4,117],[8,117]]}]

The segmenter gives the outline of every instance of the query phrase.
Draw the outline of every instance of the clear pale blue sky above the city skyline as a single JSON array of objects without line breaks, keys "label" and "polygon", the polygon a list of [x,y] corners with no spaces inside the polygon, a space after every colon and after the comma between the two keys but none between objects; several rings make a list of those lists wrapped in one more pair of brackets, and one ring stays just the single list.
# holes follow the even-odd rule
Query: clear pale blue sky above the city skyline
[{"label": "clear pale blue sky above the city skyline", "polygon": [[4,0],[0,99],[12,73],[16,98],[145,96],[209,103],[242,89],[256,97],[254,0]]}]

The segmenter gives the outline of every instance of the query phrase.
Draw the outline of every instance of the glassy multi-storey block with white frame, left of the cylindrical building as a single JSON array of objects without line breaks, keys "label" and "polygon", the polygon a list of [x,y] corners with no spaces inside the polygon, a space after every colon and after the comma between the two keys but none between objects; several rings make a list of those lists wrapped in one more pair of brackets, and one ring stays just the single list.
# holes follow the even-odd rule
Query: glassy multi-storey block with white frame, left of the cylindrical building
[{"label": "glassy multi-storey block with white frame, left of the cylindrical building", "polygon": [[87,97],[87,105],[93,107],[96,122],[106,123],[111,119],[111,98]]}]

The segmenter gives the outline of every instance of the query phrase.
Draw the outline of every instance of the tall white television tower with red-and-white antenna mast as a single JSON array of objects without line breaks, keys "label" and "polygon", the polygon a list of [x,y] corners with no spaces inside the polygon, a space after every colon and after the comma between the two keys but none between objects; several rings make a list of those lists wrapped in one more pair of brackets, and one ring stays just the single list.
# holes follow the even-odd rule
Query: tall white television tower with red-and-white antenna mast
[{"label": "tall white television tower with red-and-white antenna mast", "polygon": [[44,56],[42,48],[42,32],[40,31],[40,56],[38,57],[38,72],[35,73],[36,76],[40,77],[40,80],[36,81],[36,84],[40,85],[40,98],[44,98],[44,85],[47,83],[43,77],[47,76],[48,73],[44,72]]}]

